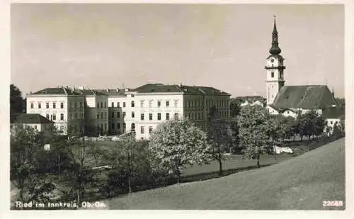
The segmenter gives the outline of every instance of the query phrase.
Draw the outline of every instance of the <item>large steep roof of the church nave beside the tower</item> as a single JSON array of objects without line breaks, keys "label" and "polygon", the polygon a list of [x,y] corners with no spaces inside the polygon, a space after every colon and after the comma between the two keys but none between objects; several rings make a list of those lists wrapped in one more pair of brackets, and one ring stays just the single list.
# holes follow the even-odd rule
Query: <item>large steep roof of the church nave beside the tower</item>
[{"label": "large steep roof of the church nave beside the tower", "polygon": [[338,105],[325,85],[282,86],[273,102],[274,108],[320,109]]}]

